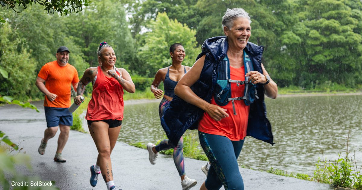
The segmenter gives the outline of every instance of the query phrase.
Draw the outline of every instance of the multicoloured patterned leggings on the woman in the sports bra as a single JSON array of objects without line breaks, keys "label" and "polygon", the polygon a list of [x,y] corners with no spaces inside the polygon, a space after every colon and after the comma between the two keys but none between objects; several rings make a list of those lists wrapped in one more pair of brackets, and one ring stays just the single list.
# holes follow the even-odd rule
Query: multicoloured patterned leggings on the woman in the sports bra
[{"label": "multicoloured patterned leggings on the woman in the sports bra", "polygon": [[[159,114],[160,118],[162,117],[166,107],[169,105],[170,101],[163,98],[160,102],[159,106]],[[173,148],[173,162],[175,163],[176,169],[178,171],[178,174],[180,176],[185,175],[185,165],[184,165],[184,139],[181,139],[178,141],[177,146],[174,147],[174,145],[169,141],[168,139],[164,139],[161,141],[160,144],[156,145],[156,151],[164,151],[168,150],[170,148]]]}]

